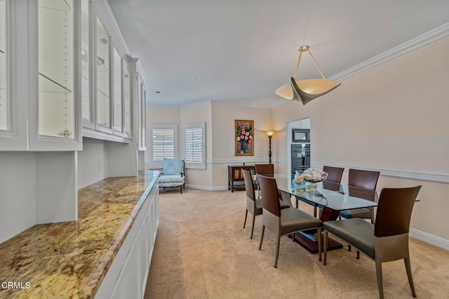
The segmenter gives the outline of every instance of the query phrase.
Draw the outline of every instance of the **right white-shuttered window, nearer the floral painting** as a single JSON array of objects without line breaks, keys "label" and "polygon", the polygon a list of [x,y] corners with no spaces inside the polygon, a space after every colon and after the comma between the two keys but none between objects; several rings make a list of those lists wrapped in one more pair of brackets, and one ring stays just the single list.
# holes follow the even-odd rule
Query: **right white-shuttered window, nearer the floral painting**
[{"label": "right white-shuttered window, nearer the floral painting", "polygon": [[186,124],[185,168],[206,169],[206,124]]}]

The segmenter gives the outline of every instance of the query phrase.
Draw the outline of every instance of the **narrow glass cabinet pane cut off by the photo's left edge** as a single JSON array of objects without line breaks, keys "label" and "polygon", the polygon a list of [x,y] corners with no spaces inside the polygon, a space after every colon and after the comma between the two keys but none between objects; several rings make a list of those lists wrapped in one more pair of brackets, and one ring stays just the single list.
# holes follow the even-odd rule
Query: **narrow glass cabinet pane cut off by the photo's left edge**
[{"label": "narrow glass cabinet pane cut off by the photo's left edge", "polygon": [[0,0],[0,131],[9,131],[8,34],[6,0]]}]

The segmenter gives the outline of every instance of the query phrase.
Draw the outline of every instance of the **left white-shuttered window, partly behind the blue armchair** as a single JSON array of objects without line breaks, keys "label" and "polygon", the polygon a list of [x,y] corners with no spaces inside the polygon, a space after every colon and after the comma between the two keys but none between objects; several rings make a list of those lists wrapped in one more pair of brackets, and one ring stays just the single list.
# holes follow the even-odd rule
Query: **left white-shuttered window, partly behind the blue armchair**
[{"label": "left white-shuttered window, partly behind the blue armchair", "polygon": [[150,124],[149,168],[162,168],[163,158],[177,157],[177,125]]}]

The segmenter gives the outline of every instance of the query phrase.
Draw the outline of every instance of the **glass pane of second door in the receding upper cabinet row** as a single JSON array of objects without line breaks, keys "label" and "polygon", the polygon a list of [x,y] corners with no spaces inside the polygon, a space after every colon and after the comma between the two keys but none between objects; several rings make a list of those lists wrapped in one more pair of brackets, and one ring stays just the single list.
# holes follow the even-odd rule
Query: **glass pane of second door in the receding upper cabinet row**
[{"label": "glass pane of second door in the receding upper cabinet row", "polygon": [[96,24],[96,123],[98,131],[112,133],[111,117],[111,39],[100,20]]}]

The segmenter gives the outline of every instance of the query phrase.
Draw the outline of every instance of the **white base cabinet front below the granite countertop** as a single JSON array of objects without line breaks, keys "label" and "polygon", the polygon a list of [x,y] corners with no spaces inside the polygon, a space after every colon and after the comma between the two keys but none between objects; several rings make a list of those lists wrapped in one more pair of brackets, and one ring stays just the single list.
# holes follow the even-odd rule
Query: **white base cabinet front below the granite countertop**
[{"label": "white base cabinet front below the granite countertop", "polygon": [[143,298],[159,225],[159,186],[145,204],[114,258],[95,298]]}]

